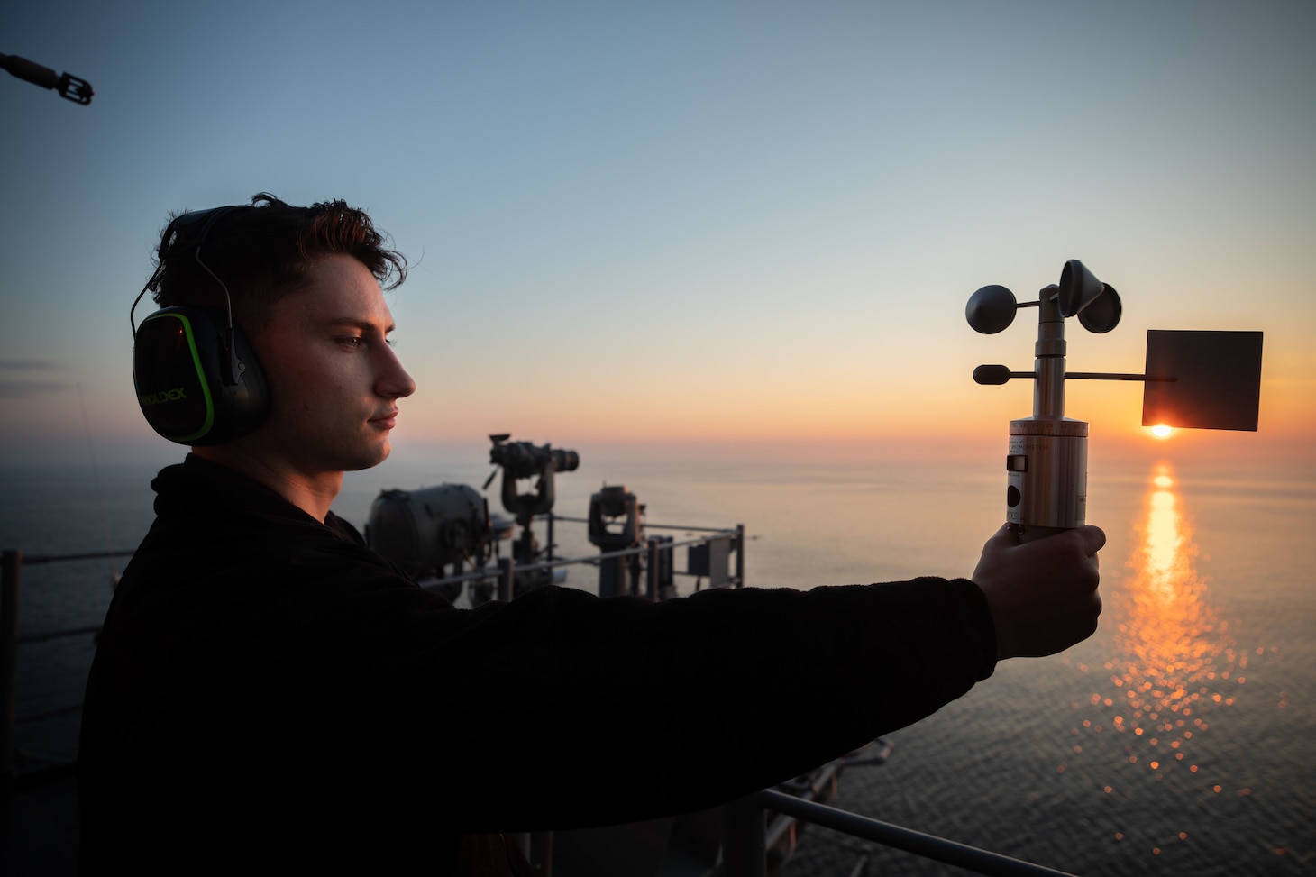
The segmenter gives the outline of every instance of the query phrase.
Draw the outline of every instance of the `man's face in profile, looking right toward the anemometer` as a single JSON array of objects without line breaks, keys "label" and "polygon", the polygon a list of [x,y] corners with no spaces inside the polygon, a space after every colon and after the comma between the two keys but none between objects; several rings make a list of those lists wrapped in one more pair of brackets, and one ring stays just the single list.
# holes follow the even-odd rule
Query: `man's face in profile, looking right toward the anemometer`
[{"label": "man's face in profile, looking right toward the anemometer", "polygon": [[329,255],[308,273],[251,338],[272,406],[249,448],[308,477],[368,469],[388,456],[397,399],[416,383],[388,345],[393,319],[366,266]]}]

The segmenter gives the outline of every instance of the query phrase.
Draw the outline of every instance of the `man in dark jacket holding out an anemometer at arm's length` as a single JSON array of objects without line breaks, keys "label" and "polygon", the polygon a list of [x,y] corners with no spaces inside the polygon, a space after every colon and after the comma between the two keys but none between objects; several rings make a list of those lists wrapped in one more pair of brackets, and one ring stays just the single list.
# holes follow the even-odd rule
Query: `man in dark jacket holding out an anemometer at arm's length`
[{"label": "man in dark jacket holding out an anemometer at arm's length", "polygon": [[[137,336],[143,411],[193,450],[153,483],[88,679],[87,873],[524,873],[497,832],[715,806],[1096,627],[1095,527],[1024,545],[1001,529],[973,581],[666,603],[545,587],[455,610],[329,511],[345,470],[387,457],[415,390],[380,290],[405,263],[370,219],[259,195],[175,219],[158,255],[162,306],[213,309]],[[222,377],[151,388],[155,327],[191,369],[208,320],[218,365],[201,371]],[[237,425],[221,402],[196,429],[158,413],[245,381]],[[780,690],[836,710],[778,712]]]}]

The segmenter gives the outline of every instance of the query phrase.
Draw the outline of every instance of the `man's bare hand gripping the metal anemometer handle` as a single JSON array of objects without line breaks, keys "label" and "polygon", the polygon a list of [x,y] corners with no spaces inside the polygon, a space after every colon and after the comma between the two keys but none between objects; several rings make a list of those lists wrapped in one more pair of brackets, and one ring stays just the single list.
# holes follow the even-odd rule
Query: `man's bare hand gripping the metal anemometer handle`
[{"label": "man's bare hand gripping the metal anemometer handle", "polygon": [[1105,533],[1078,527],[1020,543],[1005,524],[983,545],[974,582],[996,624],[996,657],[1054,654],[1096,631],[1096,552]]}]

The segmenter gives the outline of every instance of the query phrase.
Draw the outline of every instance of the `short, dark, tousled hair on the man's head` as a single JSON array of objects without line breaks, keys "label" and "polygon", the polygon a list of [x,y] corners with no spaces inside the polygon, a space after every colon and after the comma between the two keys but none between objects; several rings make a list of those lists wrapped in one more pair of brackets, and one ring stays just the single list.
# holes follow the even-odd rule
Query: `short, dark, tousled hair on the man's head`
[{"label": "short, dark, tousled hair on the man's head", "polygon": [[[365,265],[384,288],[407,279],[407,259],[388,249],[370,216],[346,201],[320,201],[293,207],[268,192],[251,205],[225,211],[205,232],[197,265],[196,229],[171,230],[179,215],[161,236],[155,277],[149,288],[161,307],[226,307],[222,280],[233,300],[233,319],[247,332],[261,332],[274,304],[303,288],[307,267],[333,254],[351,255]],[[207,269],[215,274],[211,277]]]}]

